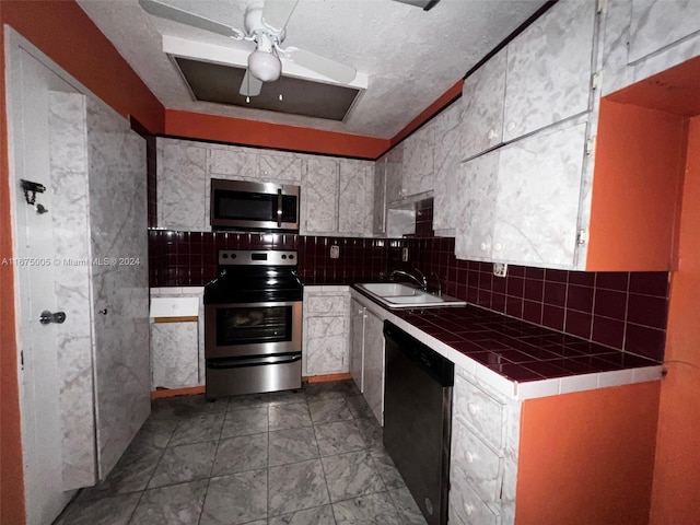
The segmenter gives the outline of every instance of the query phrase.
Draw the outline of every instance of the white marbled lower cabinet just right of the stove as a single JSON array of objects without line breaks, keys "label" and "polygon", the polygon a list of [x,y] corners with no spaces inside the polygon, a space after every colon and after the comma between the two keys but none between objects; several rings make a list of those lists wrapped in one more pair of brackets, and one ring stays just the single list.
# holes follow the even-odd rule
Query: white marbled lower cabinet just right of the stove
[{"label": "white marbled lower cabinet just right of the stove", "polygon": [[348,372],[348,287],[305,287],[303,369],[305,376]]}]

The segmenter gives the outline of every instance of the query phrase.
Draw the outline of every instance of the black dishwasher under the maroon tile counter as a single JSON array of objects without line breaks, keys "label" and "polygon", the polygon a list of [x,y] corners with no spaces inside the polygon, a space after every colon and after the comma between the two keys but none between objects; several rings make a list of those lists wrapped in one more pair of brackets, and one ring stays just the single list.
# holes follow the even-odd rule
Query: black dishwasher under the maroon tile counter
[{"label": "black dishwasher under the maroon tile counter", "polygon": [[447,523],[454,364],[384,322],[384,447],[429,525]]}]

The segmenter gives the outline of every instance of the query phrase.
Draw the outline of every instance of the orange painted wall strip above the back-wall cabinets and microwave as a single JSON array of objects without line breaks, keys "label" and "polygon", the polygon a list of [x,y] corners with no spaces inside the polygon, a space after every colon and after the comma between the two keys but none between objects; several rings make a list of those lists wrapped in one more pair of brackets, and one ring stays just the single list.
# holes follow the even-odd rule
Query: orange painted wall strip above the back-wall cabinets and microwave
[{"label": "orange painted wall strip above the back-wall cabinets and microwave", "polygon": [[165,133],[234,144],[371,160],[380,156],[389,147],[387,139],[175,109],[165,112]]}]

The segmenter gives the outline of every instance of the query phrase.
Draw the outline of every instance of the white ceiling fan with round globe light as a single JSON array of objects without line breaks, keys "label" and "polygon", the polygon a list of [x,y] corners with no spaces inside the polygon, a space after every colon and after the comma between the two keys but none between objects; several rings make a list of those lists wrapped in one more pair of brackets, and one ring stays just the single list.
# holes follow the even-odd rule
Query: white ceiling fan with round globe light
[{"label": "white ceiling fan with round globe light", "polygon": [[139,0],[141,8],[154,16],[210,31],[234,40],[255,42],[256,49],[248,56],[248,69],[241,83],[240,93],[243,96],[259,95],[262,82],[273,82],[280,77],[282,72],[280,57],[335,82],[342,84],[352,82],[357,71],[350,66],[296,47],[281,47],[287,37],[287,22],[298,2],[299,0],[266,0],[262,8],[249,7],[245,12],[245,31],[241,31],[159,0]]}]

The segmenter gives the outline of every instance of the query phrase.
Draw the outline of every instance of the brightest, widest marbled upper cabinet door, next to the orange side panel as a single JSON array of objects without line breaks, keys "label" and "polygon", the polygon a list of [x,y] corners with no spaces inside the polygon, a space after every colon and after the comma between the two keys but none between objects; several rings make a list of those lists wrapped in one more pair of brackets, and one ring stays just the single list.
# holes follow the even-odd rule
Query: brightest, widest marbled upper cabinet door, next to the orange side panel
[{"label": "brightest, widest marbled upper cabinet door, next to the orange side panel", "polygon": [[572,267],[586,124],[501,150],[493,260]]}]

